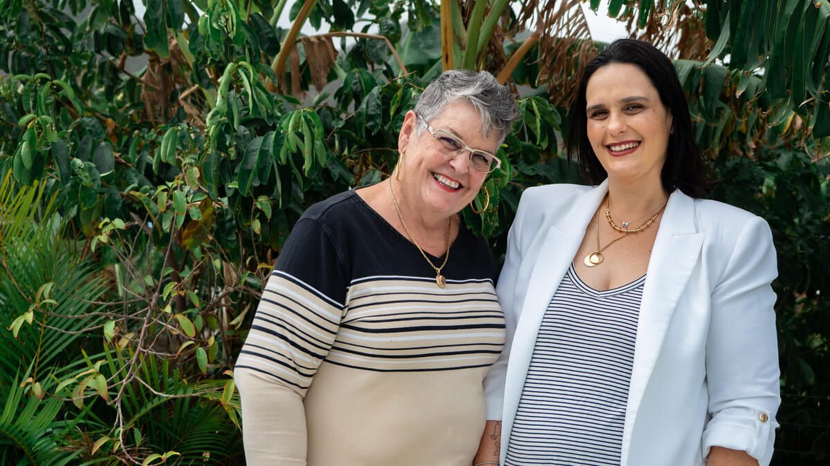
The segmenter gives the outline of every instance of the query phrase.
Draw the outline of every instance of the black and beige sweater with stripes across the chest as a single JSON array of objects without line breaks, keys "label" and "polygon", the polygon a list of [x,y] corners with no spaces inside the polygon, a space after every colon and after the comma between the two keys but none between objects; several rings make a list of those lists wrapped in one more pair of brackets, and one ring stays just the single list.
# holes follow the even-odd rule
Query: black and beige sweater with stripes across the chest
[{"label": "black and beige sweater with stripes across the chest", "polygon": [[305,420],[291,425],[307,430],[310,466],[469,466],[485,422],[482,381],[505,323],[483,240],[461,227],[442,274],[444,289],[415,245],[355,192],[312,206],[286,241],[237,361],[235,373],[267,383],[266,393],[241,389],[243,403],[301,403]]}]

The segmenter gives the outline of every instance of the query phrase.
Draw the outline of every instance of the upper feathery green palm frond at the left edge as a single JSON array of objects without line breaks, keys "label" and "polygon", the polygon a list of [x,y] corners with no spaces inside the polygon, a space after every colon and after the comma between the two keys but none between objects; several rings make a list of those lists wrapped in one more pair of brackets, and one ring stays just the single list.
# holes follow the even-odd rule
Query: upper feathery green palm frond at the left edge
[{"label": "upper feathery green palm frond at the left edge", "polygon": [[[0,380],[16,373],[18,366],[34,362],[32,376],[41,368],[71,360],[67,348],[90,337],[85,329],[101,317],[84,316],[101,311],[95,301],[107,289],[89,260],[79,259],[63,239],[64,222],[54,202],[44,197],[45,183],[17,187],[10,176],[0,185]],[[32,325],[23,324],[17,338],[6,327],[26,313],[37,290],[53,283],[55,304],[35,309]]]}]

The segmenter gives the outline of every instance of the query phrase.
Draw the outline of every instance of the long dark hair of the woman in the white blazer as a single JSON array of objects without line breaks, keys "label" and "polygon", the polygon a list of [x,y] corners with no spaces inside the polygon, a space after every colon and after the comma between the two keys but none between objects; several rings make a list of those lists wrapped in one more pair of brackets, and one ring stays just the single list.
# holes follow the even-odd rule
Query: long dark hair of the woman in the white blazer
[{"label": "long dark hair of the woman in the white blazer", "polygon": [[663,189],[666,192],[679,189],[691,197],[705,195],[712,182],[706,175],[703,153],[695,143],[689,104],[686,102],[686,95],[683,94],[683,86],[677,78],[671,60],[648,42],[618,39],[585,66],[582,79],[579,80],[578,94],[570,108],[568,160],[572,160],[574,153],[576,154],[583,177],[591,184],[598,184],[608,177],[588,140],[585,92],[593,73],[612,63],[627,63],[642,70],[657,89],[666,111],[671,114],[671,134],[666,148],[666,162],[660,175]]}]

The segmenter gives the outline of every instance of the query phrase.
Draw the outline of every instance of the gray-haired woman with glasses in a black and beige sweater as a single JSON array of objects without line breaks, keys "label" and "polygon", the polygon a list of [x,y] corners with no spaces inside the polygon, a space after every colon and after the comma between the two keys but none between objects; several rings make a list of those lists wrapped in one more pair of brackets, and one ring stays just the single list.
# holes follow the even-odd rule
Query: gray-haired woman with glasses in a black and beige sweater
[{"label": "gray-haired woman with glasses in a black and beige sweater", "polygon": [[248,464],[470,465],[505,325],[458,212],[517,116],[492,75],[447,71],[406,114],[392,177],[305,211],[234,371]]}]

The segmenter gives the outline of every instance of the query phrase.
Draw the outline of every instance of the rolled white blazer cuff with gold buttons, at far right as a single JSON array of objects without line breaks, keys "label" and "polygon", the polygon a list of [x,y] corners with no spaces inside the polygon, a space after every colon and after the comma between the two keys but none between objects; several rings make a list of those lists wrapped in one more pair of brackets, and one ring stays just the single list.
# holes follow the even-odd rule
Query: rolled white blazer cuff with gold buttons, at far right
[{"label": "rolled white blazer cuff with gold buttons, at far right", "polygon": [[767,410],[729,408],[720,411],[703,431],[701,448],[703,457],[712,447],[724,447],[745,451],[758,460],[759,466],[769,465],[775,440],[773,414]]}]

